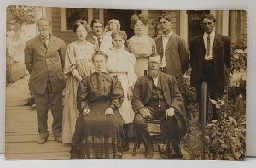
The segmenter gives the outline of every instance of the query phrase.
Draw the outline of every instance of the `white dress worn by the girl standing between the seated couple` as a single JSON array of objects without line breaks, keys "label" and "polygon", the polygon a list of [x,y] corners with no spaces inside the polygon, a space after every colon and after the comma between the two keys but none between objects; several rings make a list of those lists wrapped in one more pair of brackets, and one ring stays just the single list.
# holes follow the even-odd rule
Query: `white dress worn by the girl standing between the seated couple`
[{"label": "white dress worn by the girl standing between the seated couple", "polygon": [[134,111],[131,107],[131,99],[128,100],[127,92],[129,87],[133,87],[137,76],[134,73],[135,56],[125,49],[108,50],[107,70],[112,76],[118,76],[124,90],[124,102],[119,108],[119,112],[124,119],[124,124],[133,122]]}]

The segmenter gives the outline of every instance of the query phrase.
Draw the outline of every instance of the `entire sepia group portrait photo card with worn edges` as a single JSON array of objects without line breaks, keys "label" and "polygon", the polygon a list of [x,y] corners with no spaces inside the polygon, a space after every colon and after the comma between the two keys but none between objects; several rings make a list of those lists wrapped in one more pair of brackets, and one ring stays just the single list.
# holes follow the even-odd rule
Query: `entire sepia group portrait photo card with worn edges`
[{"label": "entire sepia group portrait photo card with worn edges", "polygon": [[7,160],[245,160],[247,11],[6,17]]}]

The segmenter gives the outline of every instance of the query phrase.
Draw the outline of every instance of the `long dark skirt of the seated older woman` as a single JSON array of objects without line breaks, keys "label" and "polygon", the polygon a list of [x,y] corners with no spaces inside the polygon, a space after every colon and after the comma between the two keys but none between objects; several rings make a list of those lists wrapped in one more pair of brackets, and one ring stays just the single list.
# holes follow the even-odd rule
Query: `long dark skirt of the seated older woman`
[{"label": "long dark skirt of the seated older woman", "polygon": [[122,158],[124,120],[118,110],[105,115],[110,101],[96,101],[89,104],[90,114],[79,114],[71,158]]}]

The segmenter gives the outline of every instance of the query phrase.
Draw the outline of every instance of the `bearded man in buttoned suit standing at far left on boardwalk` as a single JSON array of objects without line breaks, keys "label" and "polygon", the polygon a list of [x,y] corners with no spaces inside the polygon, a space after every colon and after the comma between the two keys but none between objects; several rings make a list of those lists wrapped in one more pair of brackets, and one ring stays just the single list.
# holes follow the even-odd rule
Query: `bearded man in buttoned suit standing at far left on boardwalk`
[{"label": "bearded man in buttoned suit standing at far left on boardwalk", "polygon": [[63,73],[65,42],[50,35],[50,21],[37,21],[39,36],[26,42],[25,64],[30,74],[29,88],[37,104],[38,144],[43,144],[49,136],[47,118],[48,106],[53,115],[52,132],[55,140],[62,142],[62,90],[65,88]]}]

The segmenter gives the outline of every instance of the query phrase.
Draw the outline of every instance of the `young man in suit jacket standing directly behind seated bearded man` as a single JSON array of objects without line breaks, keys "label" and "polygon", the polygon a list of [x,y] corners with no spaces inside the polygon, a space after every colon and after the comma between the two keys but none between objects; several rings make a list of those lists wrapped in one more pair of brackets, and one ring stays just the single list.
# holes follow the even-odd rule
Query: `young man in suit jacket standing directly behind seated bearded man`
[{"label": "young man in suit jacket standing directly behind seated bearded man", "polygon": [[172,32],[172,17],[170,14],[162,14],[158,21],[163,35],[155,39],[156,52],[162,58],[162,69],[167,74],[178,76],[177,87],[182,89],[183,74],[189,68],[187,42],[182,36]]}]

